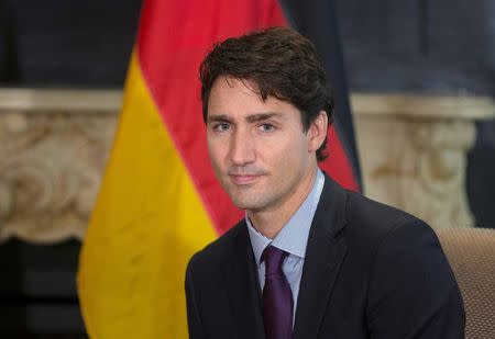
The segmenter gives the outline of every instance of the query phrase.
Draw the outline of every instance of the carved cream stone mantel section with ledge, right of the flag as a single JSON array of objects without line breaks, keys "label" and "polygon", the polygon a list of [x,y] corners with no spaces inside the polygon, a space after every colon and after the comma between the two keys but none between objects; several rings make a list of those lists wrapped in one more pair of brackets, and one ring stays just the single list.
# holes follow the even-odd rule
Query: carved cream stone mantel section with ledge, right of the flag
[{"label": "carved cream stone mantel section with ledge, right of the flag", "polygon": [[465,193],[474,122],[495,116],[490,99],[354,97],[365,194],[431,226],[474,226]]}]

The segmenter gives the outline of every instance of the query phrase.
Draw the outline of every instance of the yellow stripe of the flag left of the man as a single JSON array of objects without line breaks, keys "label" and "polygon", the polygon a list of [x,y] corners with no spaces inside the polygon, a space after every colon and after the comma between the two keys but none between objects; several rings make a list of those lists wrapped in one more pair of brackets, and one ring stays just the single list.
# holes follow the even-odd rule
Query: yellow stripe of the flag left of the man
[{"label": "yellow stripe of the flag left of the man", "polygon": [[216,237],[133,55],[80,256],[78,289],[90,337],[187,338],[184,272],[190,256]]}]

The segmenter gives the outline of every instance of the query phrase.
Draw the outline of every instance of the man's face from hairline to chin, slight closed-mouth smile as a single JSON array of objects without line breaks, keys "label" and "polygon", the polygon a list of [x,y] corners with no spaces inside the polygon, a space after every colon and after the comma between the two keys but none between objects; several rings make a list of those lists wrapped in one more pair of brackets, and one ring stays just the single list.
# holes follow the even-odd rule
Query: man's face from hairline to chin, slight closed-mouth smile
[{"label": "man's face from hairline to chin, slight closed-mouth smile", "polygon": [[226,77],[213,83],[208,150],[217,178],[238,207],[270,211],[300,192],[315,172],[321,143],[315,144],[312,129],[302,131],[298,109],[273,97],[263,101],[251,86]]}]

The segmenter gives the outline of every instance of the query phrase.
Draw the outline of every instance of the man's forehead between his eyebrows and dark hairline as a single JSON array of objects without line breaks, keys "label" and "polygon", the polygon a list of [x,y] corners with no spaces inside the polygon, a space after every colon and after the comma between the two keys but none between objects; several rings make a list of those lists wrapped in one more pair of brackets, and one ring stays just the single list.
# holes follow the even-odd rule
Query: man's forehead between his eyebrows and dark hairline
[{"label": "man's forehead between his eyebrows and dark hairline", "polygon": [[275,97],[263,100],[253,81],[222,76],[213,82],[208,101],[208,115],[249,115],[266,112],[299,114],[287,101]]}]

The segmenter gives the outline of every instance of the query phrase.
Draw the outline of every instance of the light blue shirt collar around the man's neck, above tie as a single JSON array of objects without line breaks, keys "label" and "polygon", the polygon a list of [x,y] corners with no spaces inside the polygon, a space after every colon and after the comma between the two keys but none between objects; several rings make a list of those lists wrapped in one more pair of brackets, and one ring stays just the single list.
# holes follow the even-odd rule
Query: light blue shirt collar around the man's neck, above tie
[{"label": "light blue shirt collar around the man's neck, above tie", "polygon": [[311,192],[309,192],[306,200],[274,239],[270,239],[258,233],[251,224],[248,214],[245,214],[251,246],[257,264],[261,262],[261,256],[268,245],[275,246],[299,258],[305,258],[309,229],[311,228],[316,207],[320,200],[321,191],[323,190],[323,183],[324,176],[318,169]]}]

